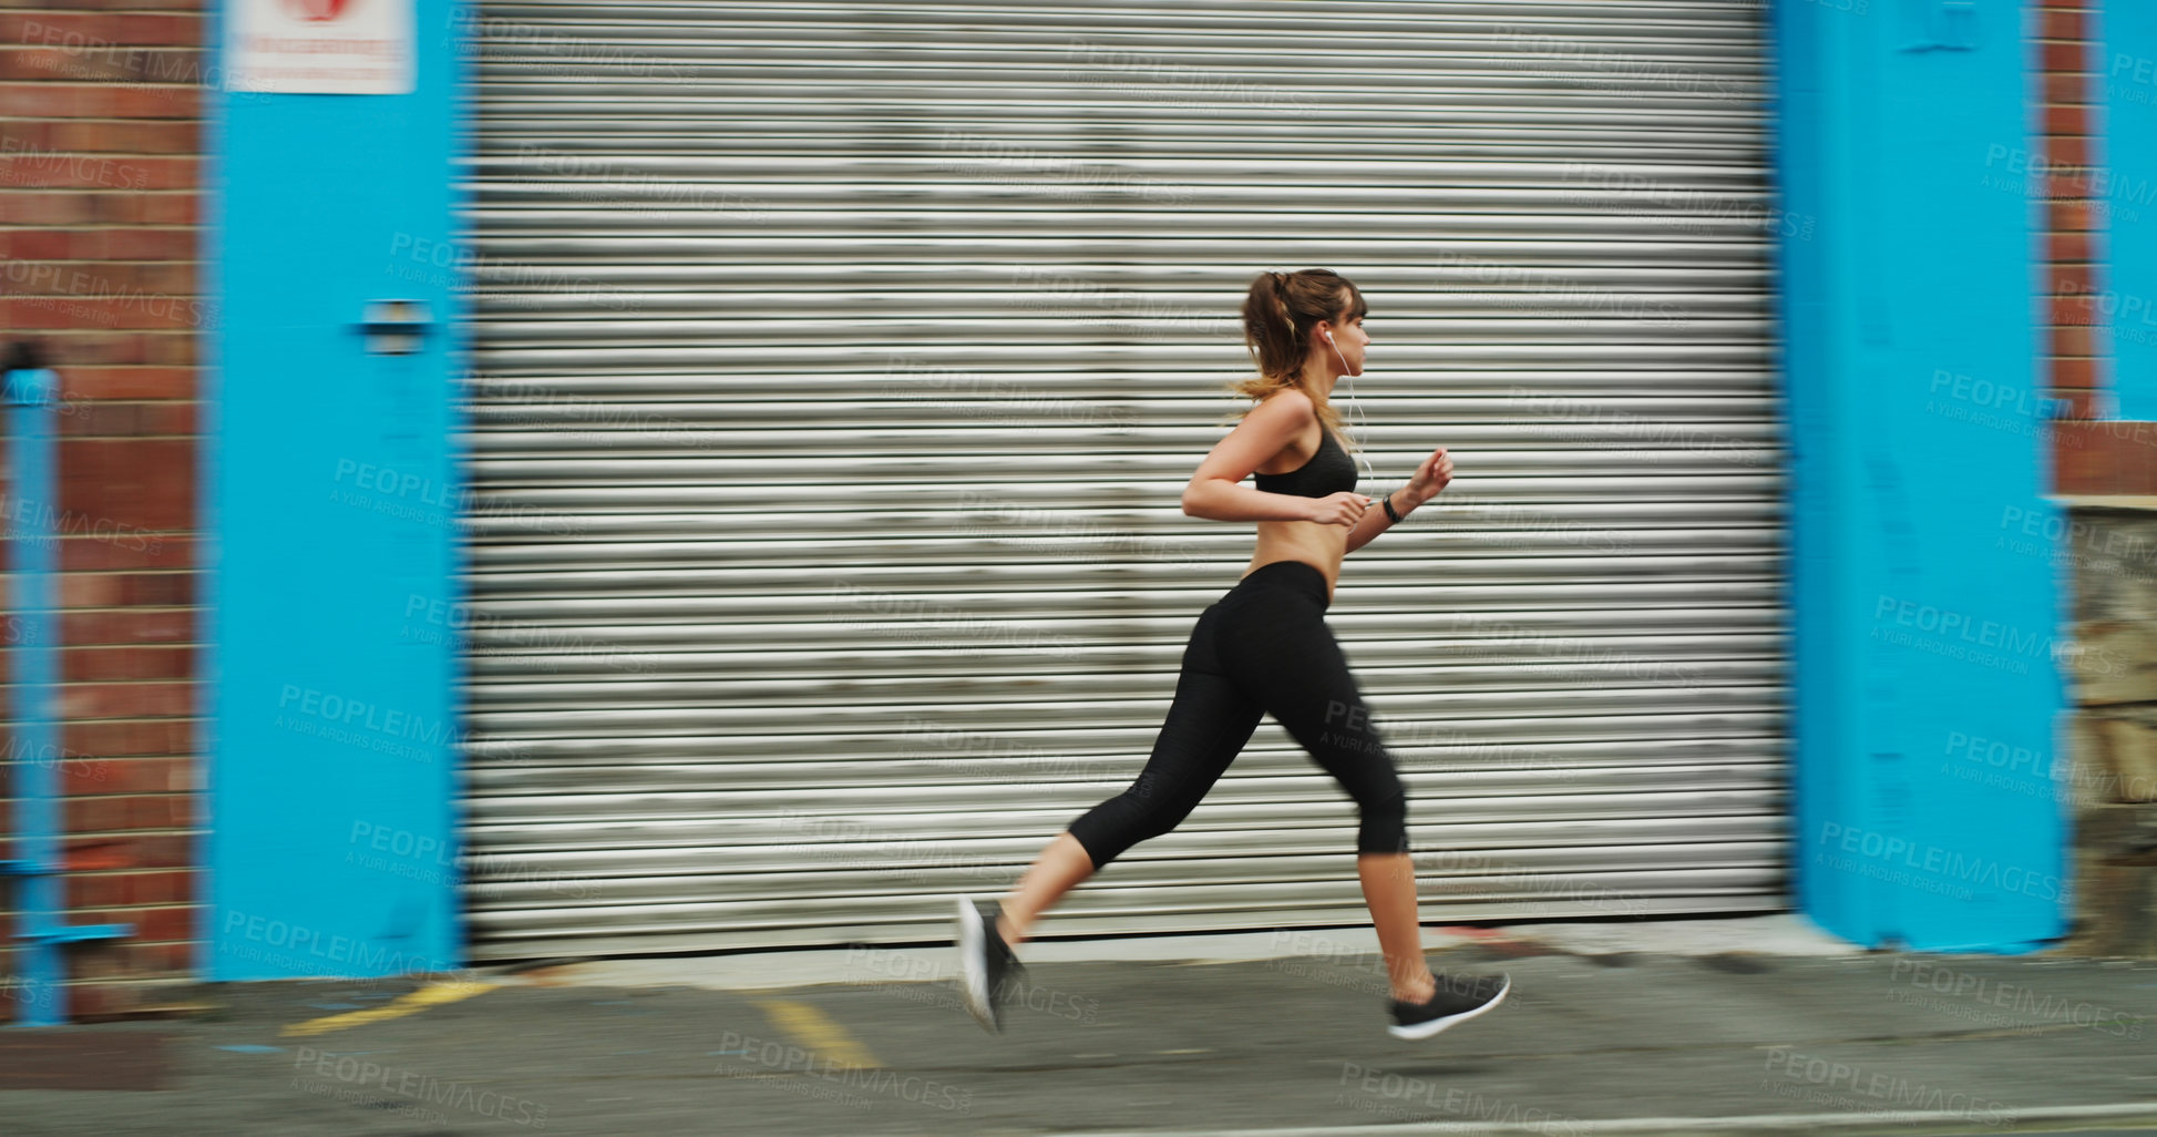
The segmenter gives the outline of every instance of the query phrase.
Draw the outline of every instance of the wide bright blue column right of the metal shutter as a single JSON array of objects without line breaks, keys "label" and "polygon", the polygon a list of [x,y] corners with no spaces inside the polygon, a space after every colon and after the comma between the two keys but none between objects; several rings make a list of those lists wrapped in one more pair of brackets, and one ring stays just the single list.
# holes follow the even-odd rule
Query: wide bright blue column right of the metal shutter
[{"label": "wide bright blue column right of the metal shutter", "polygon": [[1773,35],[1814,222],[1780,248],[1797,902],[1866,945],[2038,947],[2071,874],[2023,11],[1786,0]]}]

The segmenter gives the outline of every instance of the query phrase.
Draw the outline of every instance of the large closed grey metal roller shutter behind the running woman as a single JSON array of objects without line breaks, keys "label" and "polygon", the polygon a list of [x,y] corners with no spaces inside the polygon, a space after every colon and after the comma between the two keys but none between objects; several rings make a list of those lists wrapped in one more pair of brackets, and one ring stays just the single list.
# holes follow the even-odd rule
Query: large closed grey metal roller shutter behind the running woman
[{"label": "large closed grey metal roller shutter behind the running woman", "polygon": [[[1178,492],[1303,265],[1372,302],[1374,485],[1458,466],[1329,613],[1424,919],[1786,906],[1756,4],[475,19],[475,958],[938,939],[1016,880],[1249,557]],[[1361,923],[1352,850],[1268,718],[1042,932]]]}]

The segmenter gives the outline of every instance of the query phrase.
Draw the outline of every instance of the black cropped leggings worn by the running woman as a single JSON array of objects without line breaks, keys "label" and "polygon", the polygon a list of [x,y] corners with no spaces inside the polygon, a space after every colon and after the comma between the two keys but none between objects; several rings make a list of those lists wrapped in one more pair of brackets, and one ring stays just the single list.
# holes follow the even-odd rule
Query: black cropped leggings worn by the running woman
[{"label": "black cropped leggings worn by the running woman", "polygon": [[1070,826],[1096,869],[1182,824],[1266,712],[1355,798],[1357,852],[1409,852],[1409,796],[1324,613],[1327,578],[1303,561],[1260,565],[1206,606],[1154,755]]}]

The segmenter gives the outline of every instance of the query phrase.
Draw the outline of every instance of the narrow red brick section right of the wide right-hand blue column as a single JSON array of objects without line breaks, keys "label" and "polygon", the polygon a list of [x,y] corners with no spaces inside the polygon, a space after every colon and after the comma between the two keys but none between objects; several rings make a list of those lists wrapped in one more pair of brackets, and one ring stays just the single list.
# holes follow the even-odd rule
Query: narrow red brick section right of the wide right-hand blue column
[{"label": "narrow red brick section right of the wide right-hand blue column", "polygon": [[[2114,0],[2142,2],[2142,0]],[[2034,86],[2041,101],[2047,233],[2047,386],[2069,399],[2053,431],[2051,492],[2157,494],[2157,423],[2099,421],[2107,414],[2103,175],[2103,0],[2043,0],[2034,9]]]}]

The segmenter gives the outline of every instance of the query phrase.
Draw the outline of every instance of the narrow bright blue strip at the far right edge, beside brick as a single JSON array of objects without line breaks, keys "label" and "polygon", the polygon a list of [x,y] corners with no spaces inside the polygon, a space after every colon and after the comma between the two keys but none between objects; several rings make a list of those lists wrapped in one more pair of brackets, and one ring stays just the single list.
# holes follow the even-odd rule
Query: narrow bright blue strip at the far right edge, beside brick
[{"label": "narrow bright blue strip at the far right edge, beside brick", "polygon": [[2110,283],[2099,304],[2112,339],[2112,391],[2118,419],[2157,421],[2157,4],[2114,0],[2103,24],[2097,82],[2103,84],[2103,140],[2097,162]]}]

